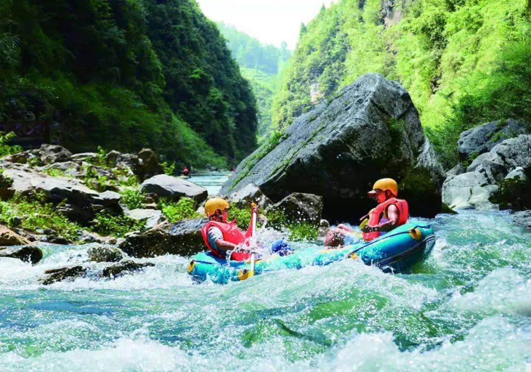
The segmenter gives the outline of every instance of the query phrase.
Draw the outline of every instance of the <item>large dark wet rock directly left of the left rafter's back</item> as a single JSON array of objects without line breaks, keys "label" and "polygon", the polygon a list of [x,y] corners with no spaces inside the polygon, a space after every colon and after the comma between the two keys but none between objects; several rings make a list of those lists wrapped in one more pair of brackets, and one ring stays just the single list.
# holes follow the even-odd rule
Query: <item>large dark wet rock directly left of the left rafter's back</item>
[{"label": "large dark wet rock directly left of the left rafter's back", "polygon": [[133,257],[190,256],[205,249],[201,227],[206,222],[204,218],[193,218],[164,223],[155,229],[127,236],[119,248]]}]

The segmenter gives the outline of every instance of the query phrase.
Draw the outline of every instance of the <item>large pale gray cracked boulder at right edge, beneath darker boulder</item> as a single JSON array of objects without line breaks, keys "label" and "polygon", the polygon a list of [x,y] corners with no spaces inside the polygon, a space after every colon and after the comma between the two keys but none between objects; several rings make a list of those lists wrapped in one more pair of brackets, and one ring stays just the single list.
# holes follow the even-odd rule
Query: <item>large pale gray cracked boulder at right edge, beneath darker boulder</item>
[{"label": "large pale gray cracked boulder at right edge, beneath darker boulder", "polygon": [[513,203],[517,193],[523,192],[525,198],[529,181],[515,178],[518,167],[524,173],[531,171],[529,134],[504,140],[474,159],[465,173],[449,177],[443,184],[442,201],[453,209],[496,209],[503,202]]}]

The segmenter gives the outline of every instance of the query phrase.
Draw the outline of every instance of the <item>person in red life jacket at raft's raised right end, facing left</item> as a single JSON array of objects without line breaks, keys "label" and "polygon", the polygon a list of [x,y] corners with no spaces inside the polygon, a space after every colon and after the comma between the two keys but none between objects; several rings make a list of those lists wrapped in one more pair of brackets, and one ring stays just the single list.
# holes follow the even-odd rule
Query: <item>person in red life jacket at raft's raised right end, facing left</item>
[{"label": "person in red life jacket at raft's raised right end, facing left", "polygon": [[[378,202],[378,206],[361,219],[366,219],[361,224],[363,241],[371,241],[395,227],[403,225],[408,218],[407,201],[397,199],[398,184],[395,180],[384,178],[374,183],[372,191],[367,196]],[[366,218],[368,217],[368,218]],[[353,227],[340,224],[330,229],[324,239],[326,247],[341,247],[361,241]]]}]

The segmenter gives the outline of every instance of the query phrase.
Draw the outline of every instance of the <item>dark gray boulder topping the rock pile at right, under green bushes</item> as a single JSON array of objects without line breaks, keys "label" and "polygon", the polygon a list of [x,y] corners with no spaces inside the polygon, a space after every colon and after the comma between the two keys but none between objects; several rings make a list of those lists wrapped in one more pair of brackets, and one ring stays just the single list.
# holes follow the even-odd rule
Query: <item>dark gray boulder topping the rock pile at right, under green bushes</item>
[{"label": "dark gray boulder topping the rock pile at right, under green bushes", "polygon": [[526,132],[525,125],[517,120],[498,120],[475,126],[459,136],[457,150],[462,160],[490,151],[498,143]]}]

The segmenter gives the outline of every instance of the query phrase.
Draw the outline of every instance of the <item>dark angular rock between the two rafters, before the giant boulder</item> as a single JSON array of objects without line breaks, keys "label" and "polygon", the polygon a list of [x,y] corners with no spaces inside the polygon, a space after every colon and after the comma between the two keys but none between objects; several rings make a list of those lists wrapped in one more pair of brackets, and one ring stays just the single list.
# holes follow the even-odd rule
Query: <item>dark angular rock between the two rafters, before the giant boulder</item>
[{"label": "dark angular rock between the two rafters, before the giant boulder", "polygon": [[323,197],[294,192],[269,207],[267,212],[271,212],[271,210],[278,210],[284,213],[289,222],[305,222],[318,225],[321,221],[323,210]]}]

